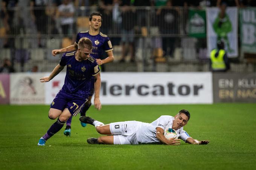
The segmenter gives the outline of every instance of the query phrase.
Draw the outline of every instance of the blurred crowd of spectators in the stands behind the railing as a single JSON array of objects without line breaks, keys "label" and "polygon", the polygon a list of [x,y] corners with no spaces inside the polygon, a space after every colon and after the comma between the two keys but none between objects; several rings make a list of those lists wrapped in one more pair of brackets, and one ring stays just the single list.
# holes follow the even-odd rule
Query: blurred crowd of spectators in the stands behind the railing
[{"label": "blurred crowd of spectators in the stands behind the railing", "polygon": [[[76,33],[82,31],[76,18],[99,11],[103,18],[101,32],[112,35],[113,45],[122,46],[120,62],[125,61],[127,51],[131,55],[130,61],[135,61],[136,35],[146,36],[149,32],[145,30],[146,26],[157,27],[158,35],[167,35],[155,38],[154,44],[163,49],[163,55],[172,56],[175,43],[178,43],[175,35],[186,35],[186,9],[220,7],[222,3],[239,8],[256,6],[255,0],[2,0],[1,47],[15,48],[17,35],[36,35],[37,41],[32,43],[32,48],[46,47],[44,35],[59,35],[73,43]],[[140,8],[142,6],[153,10]],[[19,9],[22,7],[29,7],[29,11],[22,12]],[[153,30],[151,34],[154,34]]]}]

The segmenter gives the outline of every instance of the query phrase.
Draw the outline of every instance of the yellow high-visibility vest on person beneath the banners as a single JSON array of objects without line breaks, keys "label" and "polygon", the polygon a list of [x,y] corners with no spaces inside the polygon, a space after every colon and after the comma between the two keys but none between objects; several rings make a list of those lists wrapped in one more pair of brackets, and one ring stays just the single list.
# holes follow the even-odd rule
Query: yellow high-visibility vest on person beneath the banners
[{"label": "yellow high-visibility vest on person beneath the banners", "polygon": [[224,70],[226,69],[226,64],[224,62],[225,50],[219,50],[219,54],[215,57],[215,54],[218,52],[217,49],[211,51],[211,61],[212,61],[212,69],[213,70]]}]

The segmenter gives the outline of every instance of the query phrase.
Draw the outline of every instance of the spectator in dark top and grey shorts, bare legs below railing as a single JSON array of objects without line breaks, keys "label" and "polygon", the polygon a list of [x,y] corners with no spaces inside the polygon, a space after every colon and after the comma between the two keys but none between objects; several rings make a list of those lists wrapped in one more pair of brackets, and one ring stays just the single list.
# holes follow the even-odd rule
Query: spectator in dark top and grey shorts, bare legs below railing
[{"label": "spectator in dark top and grey shorts, bare legs below railing", "polygon": [[122,26],[121,26],[121,43],[122,43],[122,58],[120,62],[125,62],[126,57],[126,43],[129,44],[129,52],[131,54],[130,62],[135,61],[135,54],[134,54],[134,25],[136,23],[136,15],[135,10],[132,6],[130,6],[130,2],[123,1],[122,6]]}]

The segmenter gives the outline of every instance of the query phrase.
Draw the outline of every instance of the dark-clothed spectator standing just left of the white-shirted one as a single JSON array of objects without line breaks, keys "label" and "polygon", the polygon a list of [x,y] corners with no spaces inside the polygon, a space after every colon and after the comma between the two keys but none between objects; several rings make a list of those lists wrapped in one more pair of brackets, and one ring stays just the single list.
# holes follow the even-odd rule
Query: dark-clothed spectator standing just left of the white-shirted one
[{"label": "dark-clothed spectator standing just left of the white-shirted one", "polygon": [[47,0],[30,0],[30,15],[37,26],[38,47],[43,47],[41,34],[47,33]]}]

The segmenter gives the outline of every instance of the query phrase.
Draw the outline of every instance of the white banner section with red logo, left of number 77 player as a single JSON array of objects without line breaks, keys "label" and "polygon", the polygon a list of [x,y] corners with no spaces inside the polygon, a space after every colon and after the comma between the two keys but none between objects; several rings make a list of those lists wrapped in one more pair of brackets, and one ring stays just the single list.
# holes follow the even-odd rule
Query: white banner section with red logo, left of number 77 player
[{"label": "white banner section with red logo, left of number 77 player", "polygon": [[[50,75],[50,72],[46,73],[45,76],[48,75]],[[59,92],[59,90],[62,88],[64,84],[65,76],[66,72],[60,72],[51,81],[45,83],[45,104],[52,103],[56,94]]]}]

